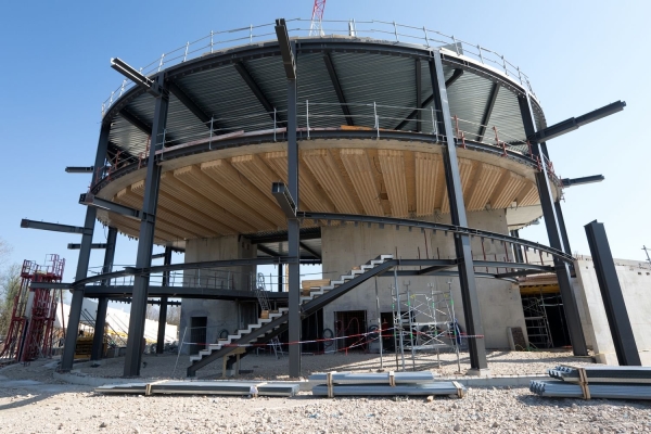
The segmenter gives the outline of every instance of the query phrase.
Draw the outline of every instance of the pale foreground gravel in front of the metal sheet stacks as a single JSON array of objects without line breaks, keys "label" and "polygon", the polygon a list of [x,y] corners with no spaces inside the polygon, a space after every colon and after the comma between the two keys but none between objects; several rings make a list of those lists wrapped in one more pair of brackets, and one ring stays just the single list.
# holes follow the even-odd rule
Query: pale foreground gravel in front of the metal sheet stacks
[{"label": "pale foreground gravel in front of the metal sheet stacks", "polygon": [[[62,387],[62,386],[59,386]],[[649,432],[646,403],[545,399],[470,388],[463,399],[102,396],[0,387],[2,433],[602,433]]]}]

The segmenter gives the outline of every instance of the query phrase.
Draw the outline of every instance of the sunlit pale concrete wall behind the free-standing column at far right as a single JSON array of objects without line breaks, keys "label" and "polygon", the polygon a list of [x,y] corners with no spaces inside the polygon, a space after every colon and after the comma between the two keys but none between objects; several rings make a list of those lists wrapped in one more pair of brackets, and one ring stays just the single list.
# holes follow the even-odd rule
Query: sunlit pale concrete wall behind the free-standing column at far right
[{"label": "sunlit pale concrete wall behind the free-standing column at far right", "polygon": [[[586,340],[592,344],[598,362],[618,365],[595,264],[589,256],[584,256],[575,261],[575,269],[577,290],[584,304],[582,323]],[[615,270],[640,359],[643,366],[651,366],[651,269],[648,264],[615,259]]]}]

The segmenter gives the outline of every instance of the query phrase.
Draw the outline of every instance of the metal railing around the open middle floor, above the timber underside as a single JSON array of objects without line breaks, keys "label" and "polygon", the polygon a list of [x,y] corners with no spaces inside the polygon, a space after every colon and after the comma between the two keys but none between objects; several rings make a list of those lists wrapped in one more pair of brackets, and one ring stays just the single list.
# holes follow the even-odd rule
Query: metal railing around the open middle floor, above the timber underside
[{"label": "metal railing around the open middle floor, above the timber underside", "polygon": [[[403,131],[419,132],[423,136],[437,136],[439,133],[439,123],[436,120],[438,113],[433,106],[417,108],[383,105],[376,102],[366,104],[348,103],[345,104],[348,114],[344,114],[343,105],[339,103],[314,103],[309,100],[299,102],[297,107],[297,129],[301,132],[301,138],[309,139],[310,135],[318,131],[348,129],[370,131],[372,136],[379,139],[383,135],[386,136],[387,132],[396,131],[396,128],[400,125],[403,125],[400,129]],[[283,119],[286,119],[286,110],[275,110],[273,112],[256,111],[255,113],[251,113],[247,108],[243,108],[242,112],[244,113],[241,115],[213,117],[205,123],[206,129],[200,132],[197,132],[196,125],[175,128],[171,131],[165,129],[155,138],[156,148],[159,149],[159,151],[156,151],[156,154],[159,155],[161,159],[165,159],[165,154],[175,149],[205,143],[208,144],[208,150],[210,150],[213,144],[218,144],[220,140],[244,133],[272,135],[272,140],[275,141],[277,137],[278,140],[285,140],[284,135],[286,130]],[[354,126],[346,125],[347,118],[353,120]],[[454,131],[450,131],[450,133],[461,146],[465,146],[465,142],[469,141],[495,148],[496,151],[505,156],[507,152],[514,152],[533,158],[533,151],[526,138],[518,137],[516,132],[508,128],[501,128],[497,125],[482,125],[458,116],[454,116],[452,120]],[[218,125],[227,126],[217,127]],[[131,164],[138,164],[139,167],[143,166],[149,156],[149,150],[150,145],[148,144],[145,150],[138,155],[123,157],[118,153],[108,161],[107,167],[99,169],[95,174],[94,183],[99,183],[116,170]],[[551,163],[547,159],[545,159],[545,163],[548,165],[552,178],[560,186],[559,178],[553,175]]]}]

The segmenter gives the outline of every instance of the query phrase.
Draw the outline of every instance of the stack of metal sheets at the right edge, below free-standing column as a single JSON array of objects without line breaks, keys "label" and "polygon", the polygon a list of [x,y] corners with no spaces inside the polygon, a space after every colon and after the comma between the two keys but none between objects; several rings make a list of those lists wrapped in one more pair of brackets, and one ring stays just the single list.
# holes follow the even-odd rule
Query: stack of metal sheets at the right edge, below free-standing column
[{"label": "stack of metal sheets at the right edge, below free-standing column", "polygon": [[566,398],[651,399],[648,367],[558,366],[548,373],[557,380],[532,381],[529,391]]}]

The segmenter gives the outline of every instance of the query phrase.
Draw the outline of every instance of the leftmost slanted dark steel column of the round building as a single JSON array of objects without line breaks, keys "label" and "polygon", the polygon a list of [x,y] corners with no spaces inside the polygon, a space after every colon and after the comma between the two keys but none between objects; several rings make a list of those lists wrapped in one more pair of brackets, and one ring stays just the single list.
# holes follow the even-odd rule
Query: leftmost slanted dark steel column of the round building
[{"label": "leftmost slanted dark steel column of the round building", "polygon": [[[98,142],[98,151],[95,153],[95,161],[93,165],[95,170],[99,167],[104,167],[110,132],[111,124],[102,124],[100,130],[100,140]],[[88,275],[88,264],[90,263],[90,250],[92,247],[92,233],[94,231],[97,212],[97,208],[93,206],[86,208],[86,220],[84,222],[84,234],[81,235],[81,246],[79,247],[79,258],[77,260],[75,281],[86,279]],[[68,316],[67,329],[65,333],[65,347],[63,348],[63,356],[61,357],[62,372],[68,372],[71,369],[73,369],[73,362],[75,360],[75,347],[77,346],[77,330],[79,329],[81,306],[84,304],[84,288],[85,285],[76,285],[73,289],[71,314]]]}]

